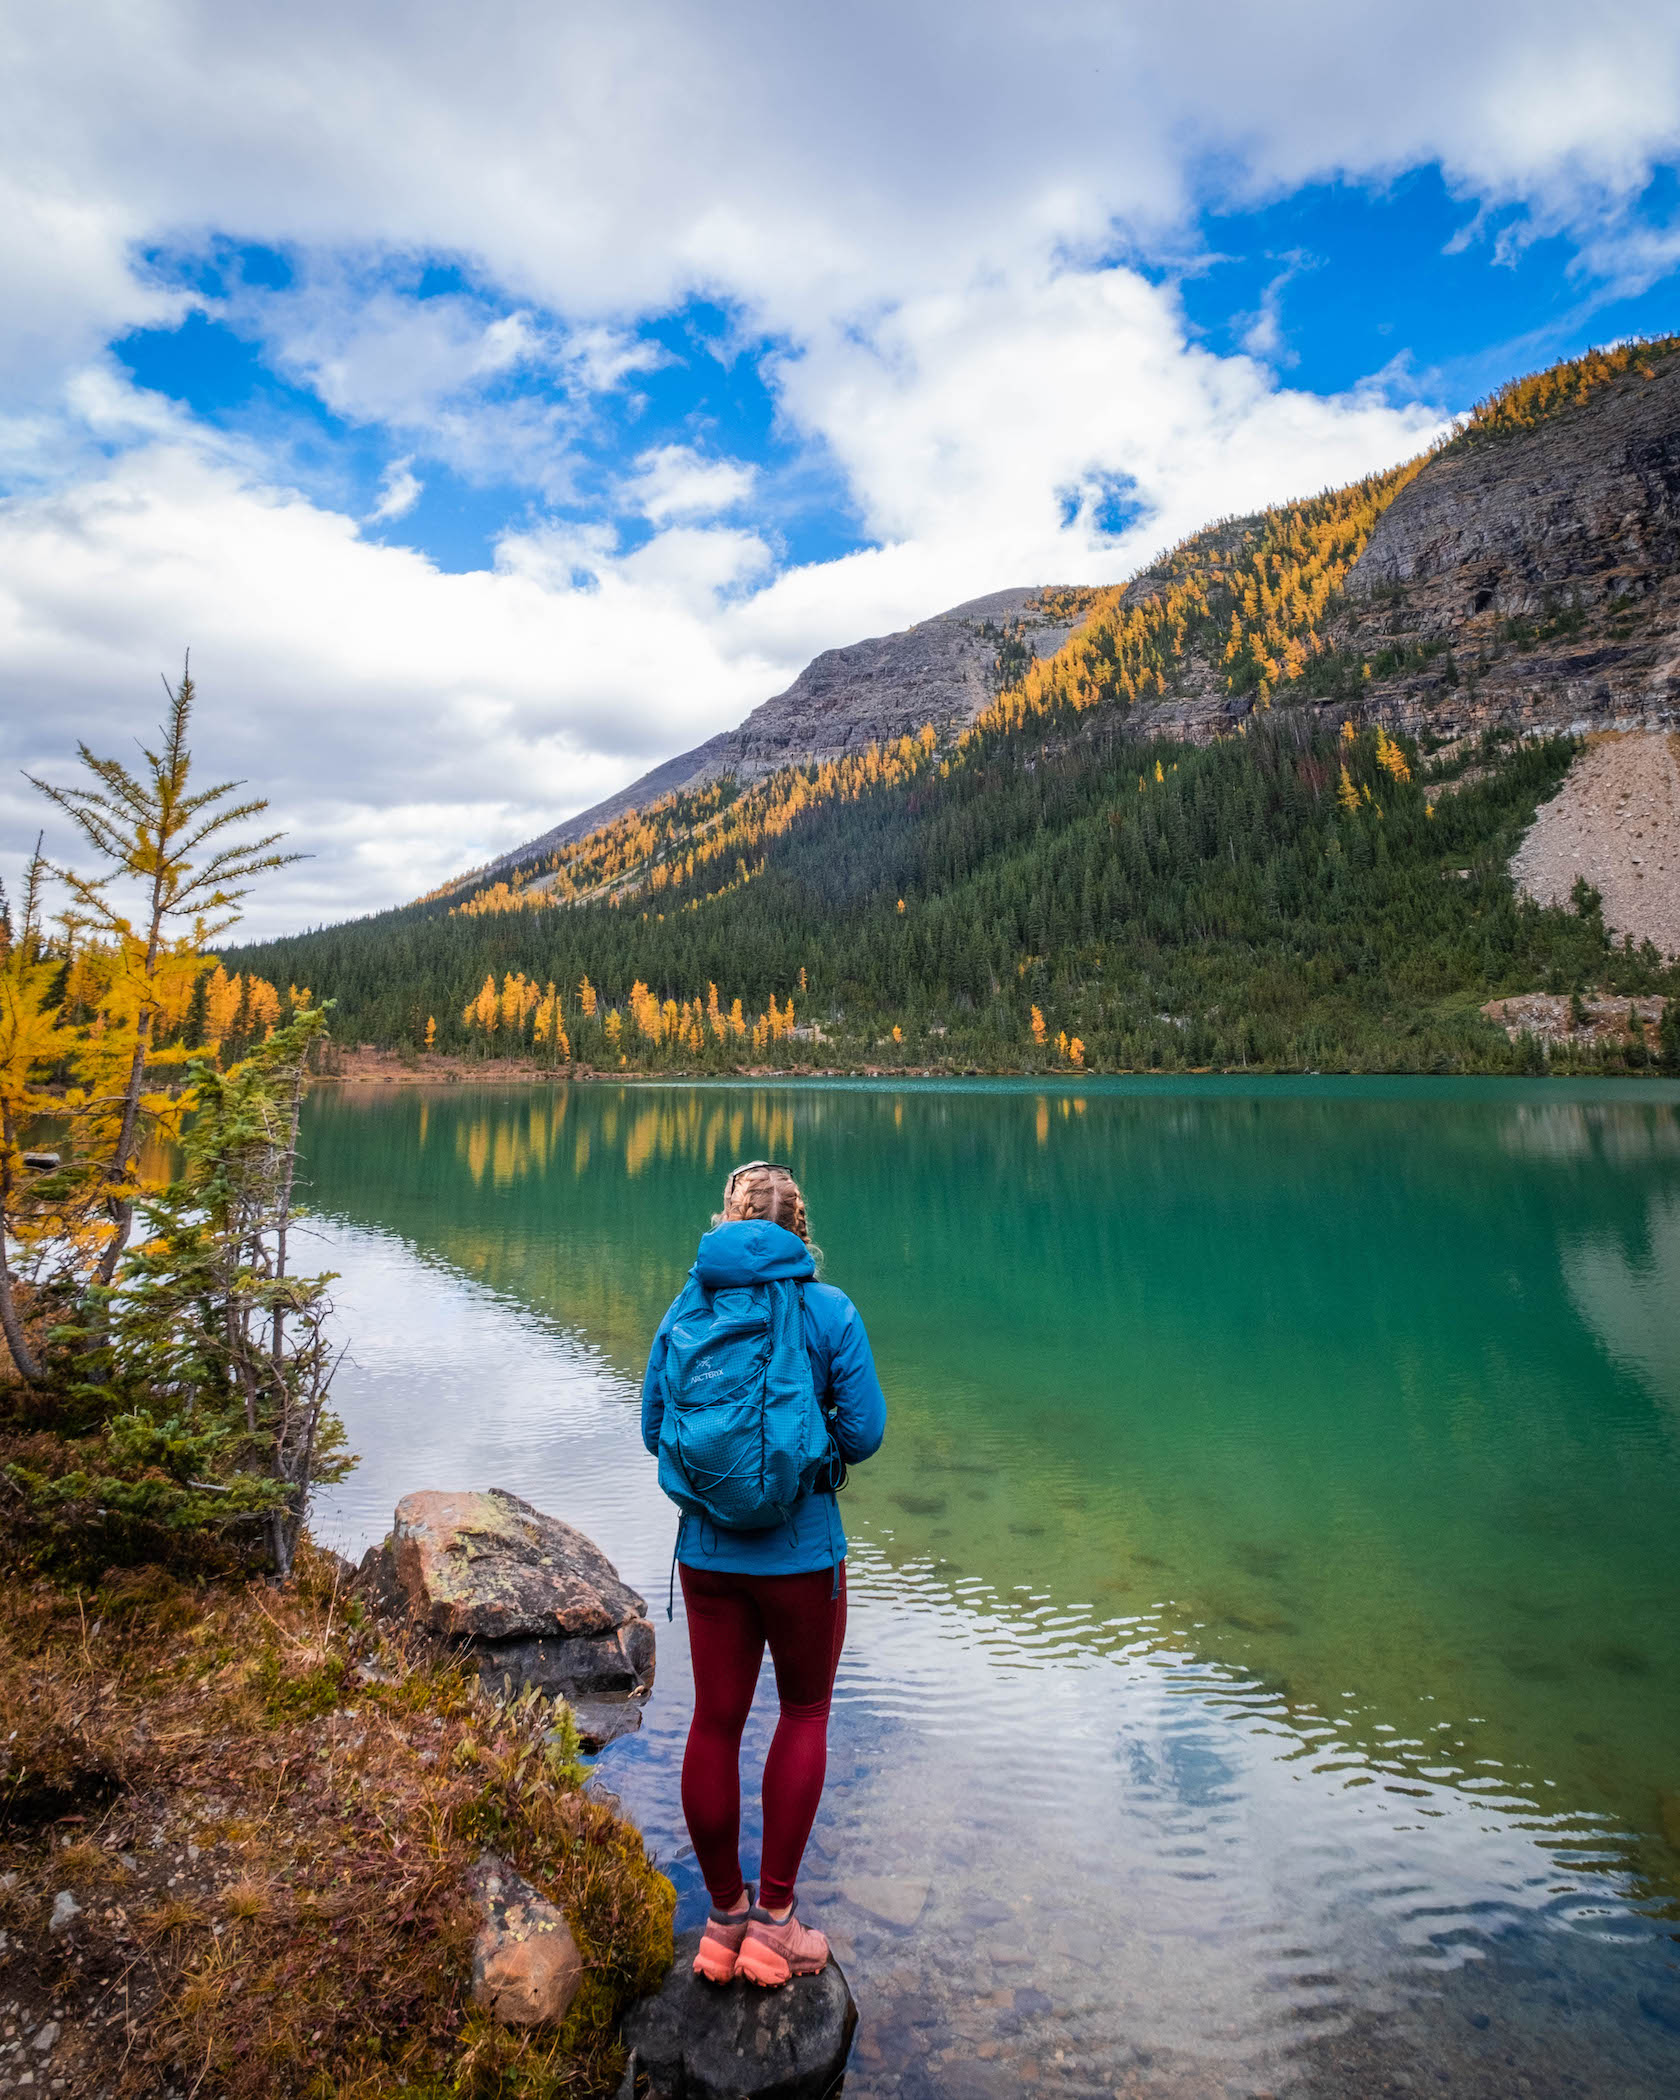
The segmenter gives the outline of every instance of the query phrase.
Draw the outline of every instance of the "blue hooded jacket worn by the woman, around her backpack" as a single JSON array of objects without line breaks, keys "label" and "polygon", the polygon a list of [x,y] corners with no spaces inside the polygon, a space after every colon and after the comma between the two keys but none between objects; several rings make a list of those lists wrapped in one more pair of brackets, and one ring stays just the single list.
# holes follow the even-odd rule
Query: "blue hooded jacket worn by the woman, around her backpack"
[{"label": "blue hooded jacket worn by the woman, around her backpack", "polygon": [[[869,1336],[857,1306],[832,1283],[813,1281],[811,1247],[769,1218],[739,1218],[714,1226],[699,1243],[689,1270],[706,1289],[788,1279],[804,1283],[804,1348],[817,1399],[834,1415],[834,1438],[848,1466],[880,1451],[886,1434],[886,1399],[869,1354]],[[672,1312],[659,1321],[643,1378],[643,1443],[659,1449],[666,1415],[666,1336]],[[680,1516],[676,1558],[689,1569],[724,1575],[811,1575],[846,1556],[846,1533],[832,1489],[813,1489],[794,1504],[788,1525],[769,1531],[729,1531],[710,1518]]]}]

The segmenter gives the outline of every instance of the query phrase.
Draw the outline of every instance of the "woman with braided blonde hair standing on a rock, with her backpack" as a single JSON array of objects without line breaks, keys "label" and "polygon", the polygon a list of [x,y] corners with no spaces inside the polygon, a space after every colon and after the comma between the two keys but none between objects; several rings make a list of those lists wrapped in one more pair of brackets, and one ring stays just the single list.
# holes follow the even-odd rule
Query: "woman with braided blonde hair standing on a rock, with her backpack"
[{"label": "woman with braided blonde hair standing on a rock, with her backpack", "polygon": [[[682,1510],[695,1716],[682,1814],[712,1894],[695,1974],[813,1976],[827,1940],[794,1915],[794,1882],[827,1770],[827,1709],[846,1638],[836,1489],[886,1430],[869,1338],[817,1283],[804,1197],[785,1166],[735,1168],[643,1380],[643,1443]],[[769,1642],[781,1716],[764,1760],[758,1900],[741,1877],[741,1732]]]}]

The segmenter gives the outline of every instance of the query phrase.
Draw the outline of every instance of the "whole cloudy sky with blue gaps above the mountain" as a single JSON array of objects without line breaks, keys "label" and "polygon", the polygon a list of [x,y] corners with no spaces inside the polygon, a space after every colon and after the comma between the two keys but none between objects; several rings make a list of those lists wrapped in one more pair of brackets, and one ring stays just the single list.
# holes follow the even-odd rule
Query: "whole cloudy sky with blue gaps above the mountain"
[{"label": "whole cloudy sky with blue gaps above the mountain", "polygon": [[0,116],[6,756],[191,645],[309,853],[254,924],[1680,328],[1632,0],[65,0]]}]

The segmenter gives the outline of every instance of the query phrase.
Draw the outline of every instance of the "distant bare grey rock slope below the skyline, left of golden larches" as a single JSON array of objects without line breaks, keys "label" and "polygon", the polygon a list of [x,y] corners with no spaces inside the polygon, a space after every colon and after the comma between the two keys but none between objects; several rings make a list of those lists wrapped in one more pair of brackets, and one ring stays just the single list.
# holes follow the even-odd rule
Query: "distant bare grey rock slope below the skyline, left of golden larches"
[{"label": "distant bare grey rock slope below the skyline, left of golden larches", "polygon": [[941,739],[964,729],[1006,676],[1054,655],[1090,592],[993,590],[899,634],[825,649],[739,724],[668,758],[620,794],[504,855],[489,874],[588,836],[626,808],[733,773],[741,783],[811,758],[844,758],[932,722]]}]

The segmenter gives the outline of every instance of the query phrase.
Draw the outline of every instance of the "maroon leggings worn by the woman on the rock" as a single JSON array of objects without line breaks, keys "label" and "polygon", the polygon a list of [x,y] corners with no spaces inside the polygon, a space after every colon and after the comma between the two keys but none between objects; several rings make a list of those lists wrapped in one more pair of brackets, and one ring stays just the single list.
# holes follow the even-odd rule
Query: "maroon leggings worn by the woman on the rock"
[{"label": "maroon leggings worn by the woman on the rock", "polygon": [[775,1663],[781,1718],[764,1758],[764,1856],[758,1900],[794,1900],[804,1842],[827,1770],[827,1705],[846,1638],[846,1569],[813,1575],[722,1575],[682,1569],[695,1718],[682,1756],[682,1814],[712,1903],[741,1900],[741,1730],[748,1724],[764,1642]]}]

